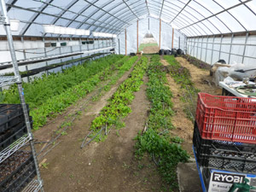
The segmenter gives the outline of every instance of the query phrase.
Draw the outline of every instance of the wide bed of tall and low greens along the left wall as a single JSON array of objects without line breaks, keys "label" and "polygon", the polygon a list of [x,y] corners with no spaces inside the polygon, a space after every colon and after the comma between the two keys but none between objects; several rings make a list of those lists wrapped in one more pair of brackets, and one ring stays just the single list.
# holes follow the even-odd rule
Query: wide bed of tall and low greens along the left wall
[{"label": "wide bed of tall and low greens along the left wall", "polygon": [[[122,64],[127,59],[127,57],[111,55],[24,84],[25,98],[31,108],[34,129],[45,125],[47,117],[61,113],[73,102],[94,90],[96,84],[113,74],[115,63]],[[19,95],[15,87],[3,91],[3,102],[19,103]]]}]

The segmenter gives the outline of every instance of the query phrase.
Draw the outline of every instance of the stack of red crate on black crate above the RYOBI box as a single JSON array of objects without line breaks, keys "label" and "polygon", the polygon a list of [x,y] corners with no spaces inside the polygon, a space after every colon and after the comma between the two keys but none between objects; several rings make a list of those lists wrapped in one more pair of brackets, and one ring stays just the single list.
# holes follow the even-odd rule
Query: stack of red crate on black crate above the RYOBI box
[{"label": "stack of red crate on black crate above the RYOBI box", "polygon": [[211,170],[255,175],[256,99],[199,93],[193,147],[206,185]]}]

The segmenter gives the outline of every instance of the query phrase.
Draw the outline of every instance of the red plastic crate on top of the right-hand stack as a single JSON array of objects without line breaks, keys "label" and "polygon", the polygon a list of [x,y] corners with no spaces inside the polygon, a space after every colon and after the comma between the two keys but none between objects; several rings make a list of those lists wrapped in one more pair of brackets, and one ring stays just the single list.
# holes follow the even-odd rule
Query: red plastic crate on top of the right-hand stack
[{"label": "red plastic crate on top of the right-hand stack", "polygon": [[256,143],[256,99],[199,93],[195,119],[204,139]]}]

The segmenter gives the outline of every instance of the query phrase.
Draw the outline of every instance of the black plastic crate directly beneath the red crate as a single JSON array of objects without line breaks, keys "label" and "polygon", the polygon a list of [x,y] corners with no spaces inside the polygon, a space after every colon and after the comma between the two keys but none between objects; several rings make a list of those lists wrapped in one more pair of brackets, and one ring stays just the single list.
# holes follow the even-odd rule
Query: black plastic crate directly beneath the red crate
[{"label": "black plastic crate directly beneath the red crate", "polygon": [[[253,144],[221,143],[201,139],[196,124],[193,144],[200,166],[236,172],[256,172],[256,155],[252,152],[255,148]],[[242,148],[244,148],[243,151],[241,151]]]}]

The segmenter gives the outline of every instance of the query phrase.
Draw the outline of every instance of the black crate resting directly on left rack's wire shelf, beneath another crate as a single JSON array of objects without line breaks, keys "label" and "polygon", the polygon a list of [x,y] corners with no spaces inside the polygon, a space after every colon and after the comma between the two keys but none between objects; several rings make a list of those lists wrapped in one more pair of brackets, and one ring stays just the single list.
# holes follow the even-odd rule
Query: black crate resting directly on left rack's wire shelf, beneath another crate
[{"label": "black crate resting directly on left rack's wire shelf, beneath another crate", "polygon": [[[32,127],[32,118],[31,127]],[[11,143],[14,143],[20,137],[23,137],[27,133],[25,122],[16,125],[14,128],[6,131],[5,134],[0,135],[0,151],[7,148]]]}]

